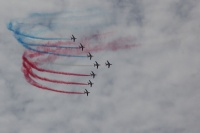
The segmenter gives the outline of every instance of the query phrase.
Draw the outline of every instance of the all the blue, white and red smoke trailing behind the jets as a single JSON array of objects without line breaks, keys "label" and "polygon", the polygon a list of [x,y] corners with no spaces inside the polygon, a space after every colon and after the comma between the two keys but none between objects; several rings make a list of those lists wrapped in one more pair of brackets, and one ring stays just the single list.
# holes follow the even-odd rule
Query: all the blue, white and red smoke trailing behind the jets
[{"label": "all the blue, white and red smoke trailing behind the jets", "polygon": [[[7,24],[7,28],[13,32],[16,40],[27,49],[22,56],[22,72],[27,82],[44,90],[65,94],[85,94],[83,92],[63,91],[43,86],[34,79],[57,84],[79,86],[88,84],[53,80],[38,76],[33,69],[41,73],[90,77],[90,74],[54,71],[39,66],[53,63],[60,56],[83,59],[87,58],[88,52],[116,51],[135,47],[136,45],[133,44],[134,41],[131,36],[118,37],[114,31],[105,30],[113,25],[109,18],[109,13],[105,10],[90,8],[79,11],[35,13],[26,19],[10,21]],[[83,51],[79,48],[77,41],[73,42],[71,40],[70,36],[72,34],[79,34],[78,42],[85,46]]]}]

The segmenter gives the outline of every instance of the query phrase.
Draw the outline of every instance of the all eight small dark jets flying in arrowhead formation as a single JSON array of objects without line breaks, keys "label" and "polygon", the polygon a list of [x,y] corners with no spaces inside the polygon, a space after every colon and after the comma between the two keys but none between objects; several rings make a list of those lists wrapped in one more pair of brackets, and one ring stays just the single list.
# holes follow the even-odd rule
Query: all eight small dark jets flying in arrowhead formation
[{"label": "all eight small dark jets flying in arrowhead formation", "polygon": [[[77,38],[76,38],[74,35],[71,36],[71,40],[72,40],[73,42],[76,42],[76,39],[77,39]],[[83,51],[84,48],[85,48],[84,45],[83,45],[82,43],[80,43],[79,49],[81,49],[81,50]],[[94,57],[94,56],[93,56],[90,52],[88,52],[87,57],[91,60],[92,57]],[[112,65],[112,64],[111,64],[108,60],[105,62],[105,66],[108,66],[108,68],[110,68],[111,65]],[[98,69],[99,66],[100,66],[100,64],[99,64],[97,61],[95,61],[94,67],[96,67],[96,68]],[[91,71],[90,75],[93,77],[93,79],[94,79],[95,76],[96,76],[96,74],[95,74],[93,71]],[[94,83],[92,83],[91,80],[88,81],[88,85],[89,85],[90,87],[92,87],[93,84],[94,84]],[[84,93],[87,94],[87,96],[88,96],[88,94],[89,94],[90,92],[89,92],[87,89],[85,89]]]}]

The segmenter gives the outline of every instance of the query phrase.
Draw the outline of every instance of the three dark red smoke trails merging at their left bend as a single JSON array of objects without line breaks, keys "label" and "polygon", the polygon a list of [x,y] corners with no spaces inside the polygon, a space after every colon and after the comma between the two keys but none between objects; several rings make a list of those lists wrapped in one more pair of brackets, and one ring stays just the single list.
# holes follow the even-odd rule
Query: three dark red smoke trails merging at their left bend
[{"label": "three dark red smoke trails merging at their left bend", "polygon": [[[36,61],[35,62],[29,61],[26,58],[26,56],[31,58],[31,59],[36,57]],[[46,57],[46,58],[43,58],[41,60],[41,57],[43,57],[43,56]],[[52,62],[56,58],[57,58],[57,56],[54,56],[54,55],[46,55],[46,54],[41,54],[41,53],[36,53],[36,52],[26,50],[24,52],[23,56],[22,56],[22,59],[23,59],[22,71],[24,73],[24,76],[25,76],[27,82],[30,83],[31,85],[35,86],[35,87],[38,87],[38,88],[41,88],[41,89],[44,89],[44,90],[49,90],[49,91],[54,91],[54,92],[59,92],[59,93],[66,93],[66,94],[85,94],[84,92],[71,92],[71,91],[62,91],[62,90],[52,89],[52,88],[49,88],[49,87],[46,87],[46,86],[43,86],[43,85],[37,83],[36,81],[34,81],[30,77],[30,76],[32,76],[32,77],[40,79],[40,80],[44,80],[44,81],[48,81],[48,82],[54,82],[54,83],[61,83],[61,84],[88,85],[88,84],[85,84],[85,83],[51,80],[51,79],[48,79],[48,78],[40,77],[40,76],[33,73],[32,68],[36,69],[38,71],[41,71],[41,72],[48,72],[48,73],[54,73],[54,74],[71,75],[71,76],[90,76],[88,74],[58,72],[58,71],[46,70],[46,69],[42,69],[42,68],[37,67],[37,65],[39,65],[41,63]]]}]

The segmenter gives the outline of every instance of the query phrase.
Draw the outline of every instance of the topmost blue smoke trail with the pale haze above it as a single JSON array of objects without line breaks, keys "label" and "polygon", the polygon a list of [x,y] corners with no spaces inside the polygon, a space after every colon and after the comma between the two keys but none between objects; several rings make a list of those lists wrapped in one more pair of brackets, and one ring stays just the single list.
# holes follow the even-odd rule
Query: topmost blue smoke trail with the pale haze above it
[{"label": "topmost blue smoke trail with the pale haze above it", "polygon": [[[44,28],[44,31],[72,30],[72,31],[98,31],[111,22],[109,13],[99,8],[85,10],[67,10],[55,13],[33,13],[25,19],[15,19],[7,24],[7,28],[15,35],[37,40],[70,40],[69,37],[41,37],[33,31]],[[37,29],[38,30],[38,29]],[[38,32],[40,32],[38,31]],[[28,32],[28,33],[27,33]],[[35,31],[34,31],[35,32]],[[32,33],[32,34],[30,34]],[[40,33],[41,34],[41,33]]]}]

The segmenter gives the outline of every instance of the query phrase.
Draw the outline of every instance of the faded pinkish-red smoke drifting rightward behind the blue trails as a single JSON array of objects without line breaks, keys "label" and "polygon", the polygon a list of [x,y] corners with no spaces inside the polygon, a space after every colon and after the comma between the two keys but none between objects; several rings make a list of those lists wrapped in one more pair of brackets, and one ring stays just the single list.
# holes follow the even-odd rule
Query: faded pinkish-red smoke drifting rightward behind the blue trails
[{"label": "faded pinkish-red smoke drifting rightward behind the blue trails", "polygon": [[[129,36],[129,37],[120,37],[120,38],[116,38],[112,41],[108,41],[108,42],[103,42],[103,38],[106,38],[108,35],[110,35],[111,33],[104,33],[104,34],[94,34],[91,35],[89,37],[84,37],[83,39],[81,39],[81,43],[83,44],[83,46],[85,46],[85,49],[82,51],[81,49],[64,49],[64,48],[50,48],[50,47],[42,47],[42,46],[38,46],[37,50],[40,51],[44,51],[44,52],[52,52],[52,53],[59,53],[59,54],[71,54],[71,55],[83,55],[83,54],[87,54],[88,52],[100,52],[100,51],[117,51],[117,50],[122,50],[122,49],[131,49],[133,47],[136,47],[137,45],[134,44],[133,42],[133,37]],[[92,43],[92,41],[96,41],[98,42],[98,45],[94,45]],[[60,46],[60,45],[76,45],[77,47],[79,46],[79,43],[74,43],[71,41],[57,41],[57,42],[47,42],[46,45],[54,45],[54,46]],[[44,54],[38,53],[38,54],[33,54],[30,53],[28,55],[28,57],[38,57]],[[44,62],[53,62],[54,60],[56,60],[57,58],[59,58],[58,56],[55,55],[48,55],[49,59],[47,60],[47,58],[45,59],[41,59],[38,58],[37,62],[39,63],[44,63]],[[46,60],[46,61],[44,61]]]}]

